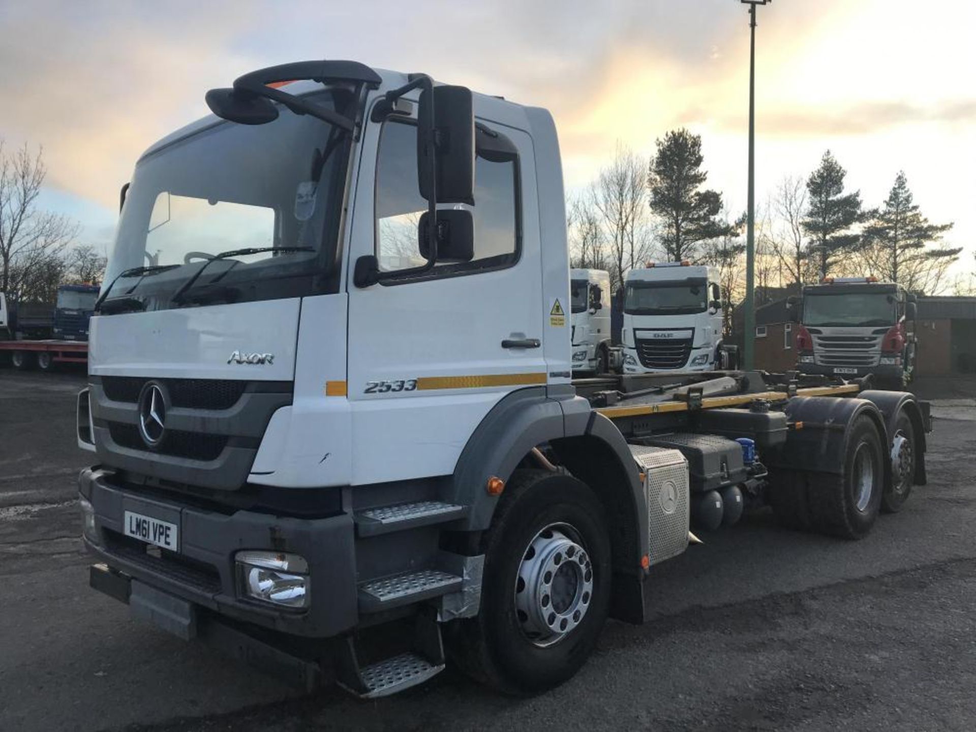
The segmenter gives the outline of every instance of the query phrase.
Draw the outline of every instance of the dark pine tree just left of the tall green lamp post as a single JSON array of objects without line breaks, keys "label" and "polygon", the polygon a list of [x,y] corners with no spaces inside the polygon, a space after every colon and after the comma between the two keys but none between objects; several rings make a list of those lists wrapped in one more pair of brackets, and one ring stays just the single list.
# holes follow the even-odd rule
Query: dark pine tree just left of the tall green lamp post
[{"label": "dark pine tree just left of the tall green lamp post", "polygon": [[718,219],[722,194],[700,190],[709,174],[702,170],[702,137],[673,130],[657,141],[648,185],[651,211],[661,220],[665,253],[673,262],[696,259],[703,242],[724,235]]}]

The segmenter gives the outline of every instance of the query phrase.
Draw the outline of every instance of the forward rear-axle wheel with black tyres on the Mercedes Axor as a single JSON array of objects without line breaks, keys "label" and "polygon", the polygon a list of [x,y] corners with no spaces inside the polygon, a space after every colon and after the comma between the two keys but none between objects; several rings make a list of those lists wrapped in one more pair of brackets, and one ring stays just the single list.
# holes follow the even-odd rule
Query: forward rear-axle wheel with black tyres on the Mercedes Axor
[{"label": "forward rear-axle wheel with black tyres on the Mercedes Axor", "polygon": [[843,473],[770,471],[769,503],[787,528],[862,539],[877,519],[887,450],[868,416],[847,428]]}]

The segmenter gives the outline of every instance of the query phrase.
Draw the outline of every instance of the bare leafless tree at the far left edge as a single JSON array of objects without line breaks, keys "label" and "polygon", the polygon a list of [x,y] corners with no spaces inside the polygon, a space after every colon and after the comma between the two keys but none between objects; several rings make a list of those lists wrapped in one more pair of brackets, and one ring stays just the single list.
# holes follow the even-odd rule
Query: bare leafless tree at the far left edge
[{"label": "bare leafless tree at the far left edge", "polygon": [[0,290],[21,298],[32,297],[31,270],[50,272],[51,257],[78,233],[78,224],[37,208],[46,175],[42,149],[31,155],[26,144],[9,150],[0,140]]}]

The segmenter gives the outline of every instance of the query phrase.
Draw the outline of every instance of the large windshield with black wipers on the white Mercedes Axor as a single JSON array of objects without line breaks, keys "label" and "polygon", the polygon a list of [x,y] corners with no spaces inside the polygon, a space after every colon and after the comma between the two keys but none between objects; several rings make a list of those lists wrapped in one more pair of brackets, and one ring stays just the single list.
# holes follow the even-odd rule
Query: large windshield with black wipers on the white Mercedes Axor
[{"label": "large windshield with black wipers on the white Mercedes Axor", "polygon": [[[334,107],[330,92],[315,103]],[[348,136],[311,115],[281,109],[264,125],[219,122],[142,158],[116,232],[106,303],[165,309],[216,255],[273,247],[209,264],[180,304],[241,302],[338,287],[337,232]],[[330,276],[330,273],[334,276]]]}]

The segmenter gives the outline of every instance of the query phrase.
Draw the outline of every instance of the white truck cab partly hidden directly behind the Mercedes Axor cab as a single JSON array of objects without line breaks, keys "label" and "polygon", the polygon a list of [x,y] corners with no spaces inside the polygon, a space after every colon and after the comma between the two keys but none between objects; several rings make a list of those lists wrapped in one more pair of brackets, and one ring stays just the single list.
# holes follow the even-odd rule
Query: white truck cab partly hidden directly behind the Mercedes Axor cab
[{"label": "white truck cab partly hidden directly behind the Mercedes Axor cab", "polygon": [[569,270],[573,373],[605,374],[610,366],[610,274]]}]

